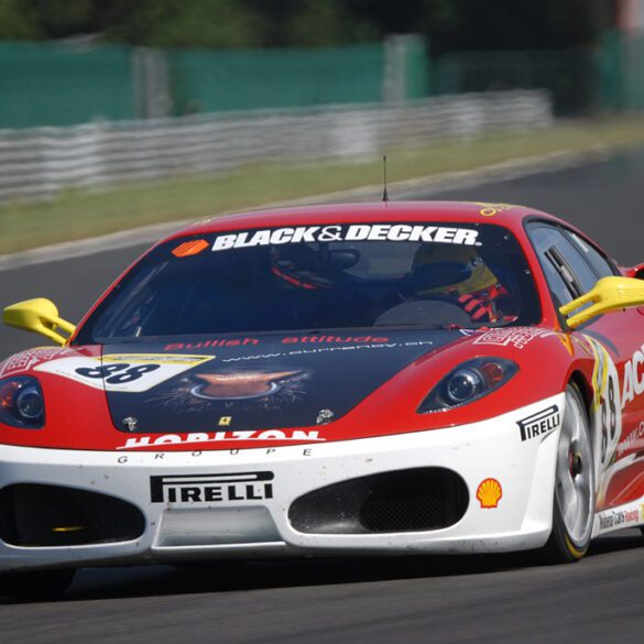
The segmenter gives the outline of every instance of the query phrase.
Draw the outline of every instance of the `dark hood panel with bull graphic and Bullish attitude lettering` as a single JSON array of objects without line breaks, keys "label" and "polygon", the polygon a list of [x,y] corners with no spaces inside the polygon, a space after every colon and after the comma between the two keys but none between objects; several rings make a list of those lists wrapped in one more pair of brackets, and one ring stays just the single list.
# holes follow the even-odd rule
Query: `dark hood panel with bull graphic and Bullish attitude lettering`
[{"label": "dark hood panel with bull graphic and Bullish attitude lettering", "polygon": [[80,374],[105,388],[127,433],[310,427],[347,414],[461,331],[325,331],[103,347]]}]

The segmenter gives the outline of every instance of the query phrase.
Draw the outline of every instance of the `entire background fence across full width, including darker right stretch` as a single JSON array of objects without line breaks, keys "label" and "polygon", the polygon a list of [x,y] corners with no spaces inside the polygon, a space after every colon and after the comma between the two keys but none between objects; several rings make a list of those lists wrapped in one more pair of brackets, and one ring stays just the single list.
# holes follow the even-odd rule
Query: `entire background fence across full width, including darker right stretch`
[{"label": "entire background fence across full width, including darker right stretch", "polygon": [[644,34],[434,59],[419,36],[265,51],[0,42],[0,129],[519,88],[548,89],[560,116],[644,110]]}]

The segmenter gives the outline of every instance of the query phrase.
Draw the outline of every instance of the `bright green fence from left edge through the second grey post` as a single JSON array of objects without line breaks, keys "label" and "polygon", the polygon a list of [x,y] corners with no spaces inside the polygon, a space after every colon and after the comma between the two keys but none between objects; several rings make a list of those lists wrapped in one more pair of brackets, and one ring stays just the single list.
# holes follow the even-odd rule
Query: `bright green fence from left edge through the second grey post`
[{"label": "bright green fence from left edge through the second grey post", "polygon": [[418,36],[266,51],[0,42],[0,129],[419,98],[426,78]]}]

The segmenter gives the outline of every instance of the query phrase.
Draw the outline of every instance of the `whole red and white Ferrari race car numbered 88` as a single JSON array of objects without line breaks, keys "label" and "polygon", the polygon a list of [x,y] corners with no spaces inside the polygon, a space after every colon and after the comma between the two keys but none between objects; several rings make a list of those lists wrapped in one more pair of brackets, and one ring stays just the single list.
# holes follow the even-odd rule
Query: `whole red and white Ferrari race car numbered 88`
[{"label": "whole red and white Ferrari race car numbered 88", "polygon": [[0,363],[0,571],[545,548],[644,523],[644,282],[532,208],[382,203],[159,242]]}]

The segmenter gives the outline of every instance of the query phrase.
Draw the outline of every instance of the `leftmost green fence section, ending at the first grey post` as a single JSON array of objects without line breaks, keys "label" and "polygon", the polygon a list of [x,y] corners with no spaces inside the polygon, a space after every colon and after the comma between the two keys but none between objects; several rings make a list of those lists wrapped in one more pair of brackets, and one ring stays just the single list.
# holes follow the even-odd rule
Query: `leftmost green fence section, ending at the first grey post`
[{"label": "leftmost green fence section, ending at the first grey post", "polygon": [[135,114],[131,51],[0,42],[0,128]]}]

